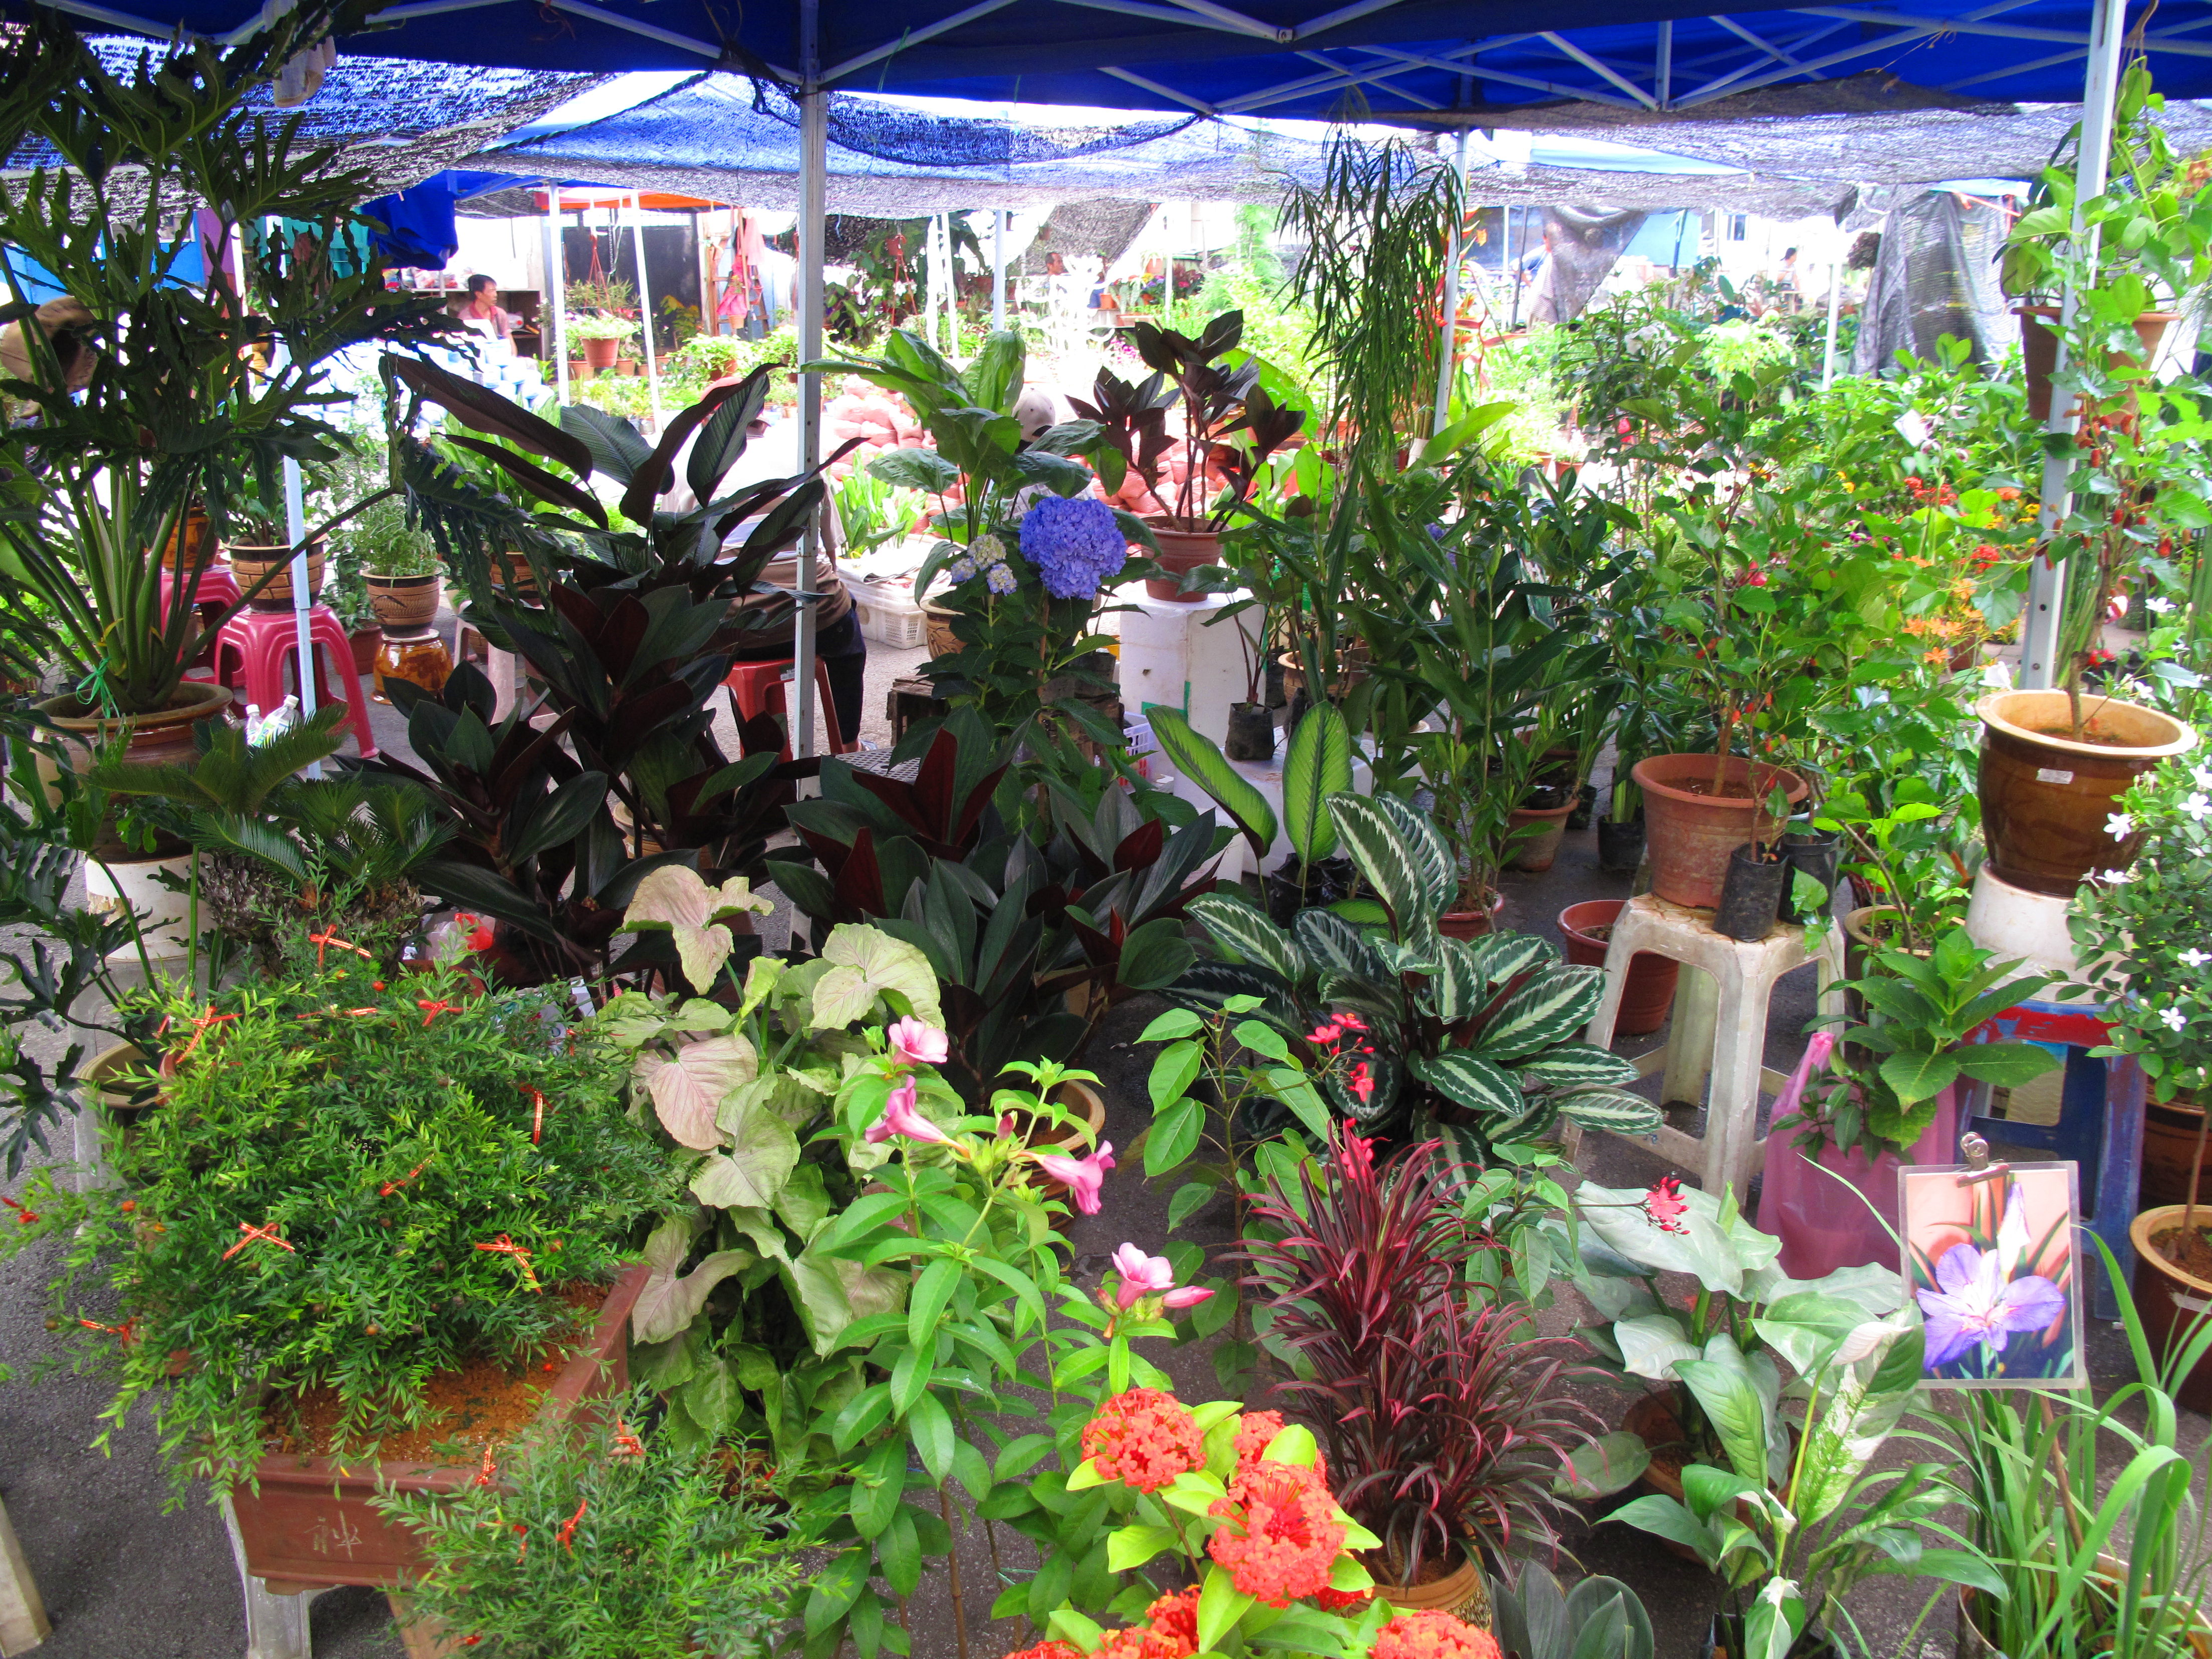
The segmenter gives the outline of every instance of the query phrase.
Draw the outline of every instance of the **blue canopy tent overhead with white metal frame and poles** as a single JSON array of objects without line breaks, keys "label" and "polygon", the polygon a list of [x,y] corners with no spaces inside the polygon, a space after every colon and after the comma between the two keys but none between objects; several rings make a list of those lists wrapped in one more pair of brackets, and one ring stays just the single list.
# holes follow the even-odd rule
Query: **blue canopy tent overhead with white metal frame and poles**
[{"label": "blue canopy tent overhead with white metal frame and poles", "polygon": [[[821,354],[827,91],[1267,115],[1555,124],[1564,111],[1655,124],[1723,113],[1856,113],[1986,100],[2084,104],[2079,195],[2104,188],[2126,0],[821,0],[728,11],[714,0],[403,0],[354,51],[456,64],[624,71],[739,69],[801,106],[801,361]],[[55,4],[108,29],[243,38],[281,0],[0,0]],[[137,9],[128,9],[137,4]],[[2212,95],[2212,15],[2154,20],[2135,42],[2170,95]],[[1480,22],[1478,22],[1480,20]],[[2154,27],[2152,27],[2154,24]],[[2084,62],[2088,73],[2084,75]],[[2068,296],[2068,314],[2073,299]],[[2073,431],[2053,398],[2053,431]],[[821,389],[803,378],[801,447],[821,453]],[[2046,500],[2064,489],[2053,465]],[[2048,522],[2048,515],[2046,515]],[[803,580],[812,557],[801,560]],[[2048,684],[2062,573],[2037,566],[2024,684]],[[812,608],[799,626],[799,743],[812,745]]]}]

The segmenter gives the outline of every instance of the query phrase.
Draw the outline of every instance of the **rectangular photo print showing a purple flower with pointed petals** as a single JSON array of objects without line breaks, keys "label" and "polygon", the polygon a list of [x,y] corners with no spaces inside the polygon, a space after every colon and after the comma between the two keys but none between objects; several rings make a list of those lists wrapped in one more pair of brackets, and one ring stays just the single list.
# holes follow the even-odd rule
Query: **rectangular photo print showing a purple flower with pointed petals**
[{"label": "rectangular photo print showing a purple flower with pointed petals", "polygon": [[[1913,1172],[1918,1197],[1949,1210],[1958,1192],[1949,1175]],[[1931,1383],[2055,1383],[2075,1374],[2070,1301],[2070,1203],[2046,1237],[2028,1234],[2028,1201],[2015,1170],[2011,1179],[1973,1190],[1971,1217],[1924,1217],[1938,1239],[1911,1252],[1913,1298],[1927,1321],[1924,1376]],[[2070,1177],[2053,1170],[2055,1177]],[[2033,1177],[2031,1177],[2033,1179]],[[1907,1183],[1909,1201],[1916,1181]],[[1993,1214],[1995,1210],[1995,1214]],[[1922,1234],[1913,1225],[1909,1232]],[[1960,1239],[1960,1232],[1966,1239]],[[2057,1329],[2055,1340],[2046,1332]]]}]

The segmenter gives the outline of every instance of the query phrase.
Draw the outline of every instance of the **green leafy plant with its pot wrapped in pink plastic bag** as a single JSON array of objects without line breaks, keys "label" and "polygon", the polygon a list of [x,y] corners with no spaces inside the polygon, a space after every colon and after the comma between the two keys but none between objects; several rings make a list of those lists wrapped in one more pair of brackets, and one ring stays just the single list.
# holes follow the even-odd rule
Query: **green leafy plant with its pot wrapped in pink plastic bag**
[{"label": "green leafy plant with its pot wrapped in pink plastic bag", "polygon": [[[1942,1164],[1958,1146],[1958,1084],[2020,1088],[2057,1068],[2033,1042],[1975,1042],[1995,1015],[2051,984],[1942,933],[1927,951],[1874,951],[1851,982],[1865,1022],[1838,1022],[1807,1048],[1803,1071],[1834,1071],[1767,1130],[1759,1214],[1783,1241],[1783,1272],[1818,1279],[1896,1259],[1898,1168]],[[1812,1168],[1818,1166],[1818,1172]]]}]

